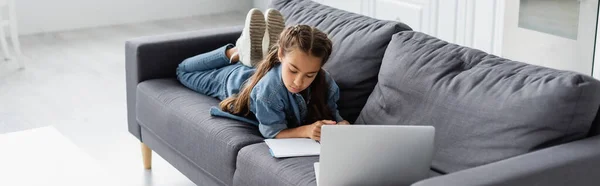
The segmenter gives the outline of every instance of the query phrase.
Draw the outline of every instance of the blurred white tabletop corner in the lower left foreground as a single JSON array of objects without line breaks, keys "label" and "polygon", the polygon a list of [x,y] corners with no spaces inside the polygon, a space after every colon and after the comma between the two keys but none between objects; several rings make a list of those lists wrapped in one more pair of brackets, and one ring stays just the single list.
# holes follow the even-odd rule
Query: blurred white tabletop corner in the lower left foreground
[{"label": "blurred white tabletop corner in the lower left foreground", "polygon": [[0,175],[10,175],[2,176],[0,185],[135,185],[128,175],[100,165],[53,126],[2,134],[0,147]]}]

